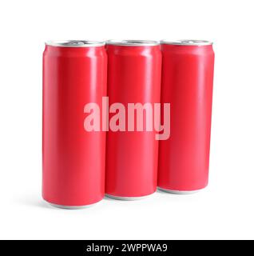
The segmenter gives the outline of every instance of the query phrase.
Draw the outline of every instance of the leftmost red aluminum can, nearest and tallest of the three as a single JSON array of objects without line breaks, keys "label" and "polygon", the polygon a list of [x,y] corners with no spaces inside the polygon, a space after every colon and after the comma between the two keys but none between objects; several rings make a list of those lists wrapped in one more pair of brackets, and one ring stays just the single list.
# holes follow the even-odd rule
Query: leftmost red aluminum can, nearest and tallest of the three
[{"label": "leftmost red aluminum can, nearest and tallest of the three", "polygon": [[105,193],[105,132],[84,129],[84,106],[106,96],[104,42],[47,42],[43,54],[42,197],[64,208]]}]

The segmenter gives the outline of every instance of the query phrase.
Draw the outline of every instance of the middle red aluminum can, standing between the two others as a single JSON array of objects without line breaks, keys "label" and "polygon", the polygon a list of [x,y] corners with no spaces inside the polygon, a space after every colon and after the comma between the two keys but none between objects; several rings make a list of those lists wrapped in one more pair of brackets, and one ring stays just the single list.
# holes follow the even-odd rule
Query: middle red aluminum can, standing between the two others
[{"label": "middle red aluminum can, standing between the two others", "polygon": [[[120,102],[127,110],[129,103],[160,102],[161,50],[158,42],[109,41],[106,50],[109,106]],[[111,117],[109,113],[109,120]],[[126,114],[126,124],[127,120]],[[109,127],[106,149],[105,193],[109,197],[131,200],[155,192],[158,141],[154,130],[138,131],[136,127],[113,131]]]}]

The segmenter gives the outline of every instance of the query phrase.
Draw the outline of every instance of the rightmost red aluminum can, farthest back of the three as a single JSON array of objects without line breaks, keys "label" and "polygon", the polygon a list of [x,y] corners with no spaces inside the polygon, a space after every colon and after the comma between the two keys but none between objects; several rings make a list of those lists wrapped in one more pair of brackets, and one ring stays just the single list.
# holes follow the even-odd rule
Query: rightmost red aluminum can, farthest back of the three
[{"label": "rightmost red aluminum can, farthest back of the three", "polygon": [[199,40],[161,41],[161,51],[170,138],[160,142],[158,186],[189,193],[208,184],[214,53],[211,42]]}]

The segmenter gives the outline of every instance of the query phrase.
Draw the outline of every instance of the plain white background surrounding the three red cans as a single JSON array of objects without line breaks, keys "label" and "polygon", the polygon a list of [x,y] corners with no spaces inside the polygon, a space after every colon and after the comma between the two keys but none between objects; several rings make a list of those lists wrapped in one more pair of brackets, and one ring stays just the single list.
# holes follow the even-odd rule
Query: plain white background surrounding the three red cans
[{"label": "plain white background surrounding the three red cans", "polygon": [[[0,238],[254,238],[253,1],[2,1]],[[42,52],[50,39],[207,39],[216,53],[210,182],[192,195],[42,201]]]}]

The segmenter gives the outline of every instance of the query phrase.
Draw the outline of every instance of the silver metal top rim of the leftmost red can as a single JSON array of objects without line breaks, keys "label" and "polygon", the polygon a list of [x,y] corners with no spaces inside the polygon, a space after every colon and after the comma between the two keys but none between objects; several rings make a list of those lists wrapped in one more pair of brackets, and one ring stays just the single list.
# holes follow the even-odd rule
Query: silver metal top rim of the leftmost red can
[{"label": "silver metal top rim of the leftmost red can", "polygon": [[46,46],[60,46],[60,47],[90,47],[90,46],[105,46],[102,41],[89,40],[55,40],[45,42]]}]

